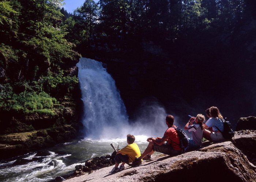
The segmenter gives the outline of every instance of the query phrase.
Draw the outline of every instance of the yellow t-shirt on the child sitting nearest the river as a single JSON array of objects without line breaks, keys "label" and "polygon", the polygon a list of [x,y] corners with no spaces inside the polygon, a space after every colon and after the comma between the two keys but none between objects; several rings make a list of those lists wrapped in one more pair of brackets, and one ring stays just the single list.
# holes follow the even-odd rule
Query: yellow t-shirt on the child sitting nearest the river
[{"label": "yellow t-shirt on the child sitting nearest the river", "polygon": [[140,157],[140,149],[136,143],[129,144],[120,151],[122,155],[128,155],[129,162],[132,162],[135,159],[135,157]]}]

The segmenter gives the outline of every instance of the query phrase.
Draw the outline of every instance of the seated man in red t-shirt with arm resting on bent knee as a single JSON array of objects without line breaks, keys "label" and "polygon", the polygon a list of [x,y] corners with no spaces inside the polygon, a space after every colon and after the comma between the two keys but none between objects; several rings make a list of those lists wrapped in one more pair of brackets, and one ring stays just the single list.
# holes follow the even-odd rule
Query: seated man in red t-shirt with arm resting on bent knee
[{"label": "seated man in red t-shirt with arm resting on bent knee", "polygon": [[172,115],[167,115],[165,122],[168,129],[165,131],[165,134],[163,134],[163,137],[148,138],[147,141],[149,143],[147,148],[140,157],[134,159],[132,162],[133,166],[139,165],[142,159],[150,158],[150,155],[153,154],[154,151],[171,156],[181,154],[180,138],[177,131],[172,128],[172,126],[176,127],[173,125],[174,117]]}]

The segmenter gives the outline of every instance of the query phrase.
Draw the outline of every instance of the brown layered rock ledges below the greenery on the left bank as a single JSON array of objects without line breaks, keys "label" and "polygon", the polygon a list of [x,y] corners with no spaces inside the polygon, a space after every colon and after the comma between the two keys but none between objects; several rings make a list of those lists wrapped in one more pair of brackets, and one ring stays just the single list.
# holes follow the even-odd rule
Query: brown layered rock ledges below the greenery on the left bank
[{"label": "brown layered rock ledges below the greenery on the left bank", "polygon": [[77,138],[83,128],[77,102],[74,99],[63,99],[55,107],[54,116],[31,114],[12,116],[10,120],[5,120],[0,130],[0,159]]}]

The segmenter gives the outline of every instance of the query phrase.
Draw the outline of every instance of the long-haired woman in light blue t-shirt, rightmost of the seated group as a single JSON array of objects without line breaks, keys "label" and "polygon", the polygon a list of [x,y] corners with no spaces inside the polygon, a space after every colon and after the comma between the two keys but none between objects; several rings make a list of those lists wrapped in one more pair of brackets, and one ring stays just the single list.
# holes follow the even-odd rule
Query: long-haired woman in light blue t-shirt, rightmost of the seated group
[{"label": "long-haired woman in light blue t-shirt, rightmost of the seated group", "polygon": [[[210,108],[210,116],[211,118],[207,120],[206,123],[204,123],[204,138],[206,138],[209,141],[212,142],[219,142],[224,140],[223,135],[221,132],[224,131],[223,122],[221,119],[223,119],[221,113],[219,112],[219,109],[215,106],[212,106]],[[206,128],[212,127],[213,131],[206,130]],[[218,130],[221,130],[219,131]]]}]

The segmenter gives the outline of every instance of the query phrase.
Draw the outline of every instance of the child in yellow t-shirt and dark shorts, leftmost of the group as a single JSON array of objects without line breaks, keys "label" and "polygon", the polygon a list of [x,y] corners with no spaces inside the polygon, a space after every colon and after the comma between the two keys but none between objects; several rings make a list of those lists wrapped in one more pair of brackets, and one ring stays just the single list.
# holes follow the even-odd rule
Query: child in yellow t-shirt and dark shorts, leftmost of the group
[{"label": "child in yellow t-shirt and dark shorts, leftmost of the group", "polygon": [[[125,146],[123,149],[118,150],[116,152],[116,157],[114,160],[116,161],[115,167],[109,171],[109,173],[115,173],[120,170],[124,170],[124,164],[132,162],[135,157],[140,157],[140,149],[136,143],[133,143],[135,141],[135,137],[131,134],[127,135],[127,143],[128,145]],[[120,167],[118,165],[122,162]]]}]

